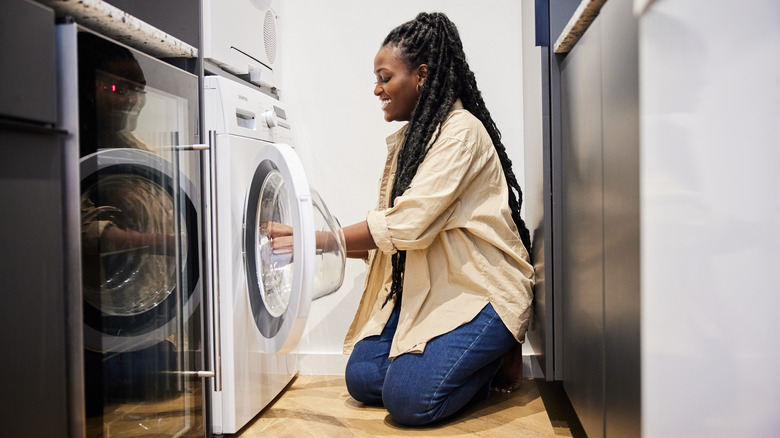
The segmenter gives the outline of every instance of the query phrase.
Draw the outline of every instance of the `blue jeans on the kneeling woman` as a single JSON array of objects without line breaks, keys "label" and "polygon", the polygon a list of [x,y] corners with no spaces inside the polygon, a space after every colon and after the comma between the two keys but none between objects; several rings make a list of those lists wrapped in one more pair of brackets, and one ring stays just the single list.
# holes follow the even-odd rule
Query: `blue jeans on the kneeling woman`
[{"label": "blue jeans on the kneeling woman", "polygon": [[467,324],[430,340],[422,354],[390,360],[399,312],[396,305],[380,335],[355,345],[345,375],[352,398],[384,404],[399,423],[420,426],[458,412],[471,400],[489,397],[501,356],[517,343],[492,305]]}]

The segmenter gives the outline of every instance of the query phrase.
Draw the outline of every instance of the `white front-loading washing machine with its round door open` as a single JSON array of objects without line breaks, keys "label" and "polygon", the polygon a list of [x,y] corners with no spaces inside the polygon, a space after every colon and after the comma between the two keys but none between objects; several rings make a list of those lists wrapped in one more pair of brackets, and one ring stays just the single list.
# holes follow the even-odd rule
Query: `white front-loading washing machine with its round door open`
[{"label": "white front-loading washing machine with its round door open", "polygon": [[[211,147],[211,415],[219,435],[241,429],[295,376],[297,357],[290,352],[311,301],[341,286],[346,251],[338,221],[309,187],[295,150],[281,143],[292,140],[283,104],[220,76],[205,78],[204,95]],[[292,253],[273,249],[271,229],[291,232]]]}]

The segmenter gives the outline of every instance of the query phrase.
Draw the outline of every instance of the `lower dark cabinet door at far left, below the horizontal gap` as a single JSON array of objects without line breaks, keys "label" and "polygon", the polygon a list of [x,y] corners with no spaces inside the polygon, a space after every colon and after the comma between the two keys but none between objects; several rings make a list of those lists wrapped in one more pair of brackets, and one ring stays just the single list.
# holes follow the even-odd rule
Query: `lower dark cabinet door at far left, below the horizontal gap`
[{"label": "lower dark cabinet door at far left, below the horizontal gap", "polygon": [[68,436],[63,141],[0,121],[3,436]]}]

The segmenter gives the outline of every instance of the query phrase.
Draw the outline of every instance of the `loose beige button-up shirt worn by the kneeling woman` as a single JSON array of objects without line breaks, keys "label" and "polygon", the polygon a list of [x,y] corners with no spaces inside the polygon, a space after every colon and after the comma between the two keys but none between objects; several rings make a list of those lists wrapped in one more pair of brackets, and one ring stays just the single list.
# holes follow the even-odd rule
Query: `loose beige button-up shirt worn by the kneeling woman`
[{"label": "loose beige button-up shirt worn by the kneeling woman", "polygon": [[393,310],[391,256],[406,251],[403,299],[390,357],[471,321],[491,303],[518,342],[528,329],[534,271],[508,204],[501,161],[487,130],[460,101],[441,126],[409,189],[388,206],[408,125],[387,138],[379,203],[367,215],[378,250],[344,343],[382,332]]}]

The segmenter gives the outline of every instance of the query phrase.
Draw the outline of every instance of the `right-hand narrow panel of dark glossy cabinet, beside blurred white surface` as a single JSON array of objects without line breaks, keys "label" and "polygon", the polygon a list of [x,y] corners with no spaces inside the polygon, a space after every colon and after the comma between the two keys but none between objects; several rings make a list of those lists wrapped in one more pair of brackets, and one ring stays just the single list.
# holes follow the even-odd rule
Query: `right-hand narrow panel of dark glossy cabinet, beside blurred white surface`
[{"label": "right-hand narrow panel of dark glossy cabinet, beside blurred white surface", "polygon": [[639,72],[630,1],[601,10],[605,410],[608,437],[640,435]]}]

